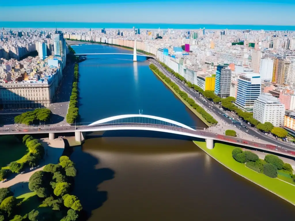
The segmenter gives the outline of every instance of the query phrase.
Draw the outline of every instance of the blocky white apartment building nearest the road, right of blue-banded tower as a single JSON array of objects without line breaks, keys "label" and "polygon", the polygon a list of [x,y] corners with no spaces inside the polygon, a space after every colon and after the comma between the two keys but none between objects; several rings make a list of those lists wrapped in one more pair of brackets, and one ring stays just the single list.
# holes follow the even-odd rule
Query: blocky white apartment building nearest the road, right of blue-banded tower
[{"label": "blocky white apartment building nearest the road, right of blue-banded tower", "polygon": [[254,102],[253,118],[261,123],[271,122],[275,127],[284,125],[285,105],[269,93],[262,93]]}]

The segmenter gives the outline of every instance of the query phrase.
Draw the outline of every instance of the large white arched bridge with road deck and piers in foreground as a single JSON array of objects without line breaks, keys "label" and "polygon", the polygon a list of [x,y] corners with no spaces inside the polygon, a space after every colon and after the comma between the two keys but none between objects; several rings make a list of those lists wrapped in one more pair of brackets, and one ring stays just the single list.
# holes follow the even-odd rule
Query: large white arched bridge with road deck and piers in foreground
[{"label": "large white arched bridge with road deck and piers in foreground", "polygon": [[113,131],[113,130],[145,130],[145,131],[159,131],[164,133],[172,133],[183,136],[194,138],[201,138],[206,140],[207,148],[213,149],[214,140],[223,141],[231,144],[239,144],[242,146],[247,146],[255,149],[261,149],[265,151],[270,151],[278,154],[283,154],[287,156],[295,157],[295,151],[287,149],[278,149],[278,147],[270,144],[260,144],[257,142],[224,136],[217,133],[211,133],[204,131],[204,128],[196,128],[184,125],[177,121],[173,121],[167,118],[143,115],[143,114],[127,114],[119,115],[101,119],[95,121],[94,123],[88,125],[76,125],[71,126],[60,126],[51,128],[50,126],[44,127],[27,127],[22,131],[5,131],[0,130],[0,135],[2,134],[37,134],[37,133],[49,133],[49,139],[55,138],[55,133],[67,133],[75,132],[75,138],[78,142],[83,142],[86,138],[86,132],[94,131]]}]

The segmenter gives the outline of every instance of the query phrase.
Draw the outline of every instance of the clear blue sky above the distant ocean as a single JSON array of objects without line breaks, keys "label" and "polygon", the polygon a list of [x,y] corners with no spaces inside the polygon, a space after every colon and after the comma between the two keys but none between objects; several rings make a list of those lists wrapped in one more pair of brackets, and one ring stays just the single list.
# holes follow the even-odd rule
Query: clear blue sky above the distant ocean
[{"label": "clear blue sky above the distant ocean", "polygon": [[295,25],[295,0],[0,0],[0,21]]}]

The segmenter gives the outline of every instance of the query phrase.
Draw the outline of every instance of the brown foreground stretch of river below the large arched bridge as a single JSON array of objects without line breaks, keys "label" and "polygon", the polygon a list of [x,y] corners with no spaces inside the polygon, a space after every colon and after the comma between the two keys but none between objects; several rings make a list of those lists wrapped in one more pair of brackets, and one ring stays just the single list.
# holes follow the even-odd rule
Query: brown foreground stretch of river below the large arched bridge
[{"label": "brown foreground stretch of river below the large arched bridge", "polygon": [[[89,220],[291,220],[294,207],[191,141],[103,137],[71,155]],[[244,212],[247,211],[247,212]],[[241,215],[242,214],[242,215]]]}]

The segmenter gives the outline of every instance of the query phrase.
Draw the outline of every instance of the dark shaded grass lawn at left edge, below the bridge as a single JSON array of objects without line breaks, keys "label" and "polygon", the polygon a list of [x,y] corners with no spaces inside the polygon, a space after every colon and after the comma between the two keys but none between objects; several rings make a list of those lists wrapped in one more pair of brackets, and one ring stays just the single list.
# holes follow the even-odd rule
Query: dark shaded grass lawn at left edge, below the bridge
[{"label": "dark shaded grass lawn at left edge, below the bridge", "polygon": [[0,136],[0,144],[0,168],[9,169],[7,165],[12,161],[26,161],[29,150],[14,136]]}]

